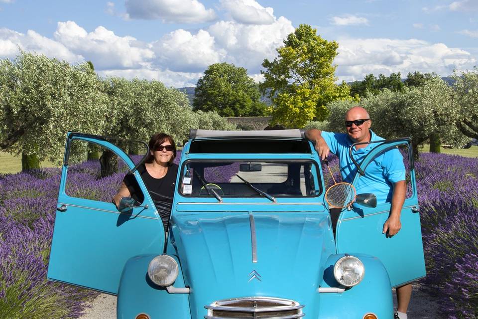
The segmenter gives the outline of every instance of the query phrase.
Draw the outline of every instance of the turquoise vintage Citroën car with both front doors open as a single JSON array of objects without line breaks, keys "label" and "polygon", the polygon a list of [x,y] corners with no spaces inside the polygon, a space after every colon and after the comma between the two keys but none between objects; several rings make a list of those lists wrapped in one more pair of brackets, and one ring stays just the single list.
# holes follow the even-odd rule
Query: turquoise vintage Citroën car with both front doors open
[{"label": "turquoise vintage Citro\u00ebn car with both front doors open", "polygon": [[[72,195],[78,142],[123,160],[143,202],[121,213],[111,197]],[[120,319],[391,319],[391,288],[425,276],[410,140],[376,143],[354,180],[397,149],[409,189],[389,237],[390,203],[370,195],[332,223],[328,176],[303,132],[192,130],[165,232],[130,157],[104,137],[69,133],[48,279],[117,295]]]}]

